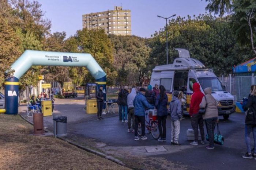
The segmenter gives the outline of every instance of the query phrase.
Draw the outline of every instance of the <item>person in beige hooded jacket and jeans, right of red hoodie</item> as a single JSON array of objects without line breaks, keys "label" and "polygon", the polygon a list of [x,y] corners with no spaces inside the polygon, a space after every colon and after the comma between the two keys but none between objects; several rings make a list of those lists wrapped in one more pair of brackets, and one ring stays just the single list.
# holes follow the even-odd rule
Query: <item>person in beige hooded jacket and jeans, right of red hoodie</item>
[{"label": "person in beige hooded jacket and jeans, right of red hoodie", "polygon": [[[203,120],[205,120],[207,134],[209,137],[209,146],[207,149],[214,149],[214,130],[215,124],[218,121],[218,108],[217,108],[217,101],[211,95],[211,88],[204,89],[205,96],[200,103],[200,108],[205,109],[205,113],[203,114]],[[201,113],[201,114],[202,114]]]}]

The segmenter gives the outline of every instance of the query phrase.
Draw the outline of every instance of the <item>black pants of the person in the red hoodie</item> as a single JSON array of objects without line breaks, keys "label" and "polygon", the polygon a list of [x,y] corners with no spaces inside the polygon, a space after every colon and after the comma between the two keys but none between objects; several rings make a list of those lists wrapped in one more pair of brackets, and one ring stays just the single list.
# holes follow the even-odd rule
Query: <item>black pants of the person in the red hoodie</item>
[{"label": "black pants of the person in the red hoodie", "polygon": [[198,142],[198,125],[200,129],[200,134],[202,137],[202,140],[204,140],[204,121],[203,116],[199,113],[193,114],[191,117],[191,125],[193,128],[193,131],[195,133],[195,141]]}]

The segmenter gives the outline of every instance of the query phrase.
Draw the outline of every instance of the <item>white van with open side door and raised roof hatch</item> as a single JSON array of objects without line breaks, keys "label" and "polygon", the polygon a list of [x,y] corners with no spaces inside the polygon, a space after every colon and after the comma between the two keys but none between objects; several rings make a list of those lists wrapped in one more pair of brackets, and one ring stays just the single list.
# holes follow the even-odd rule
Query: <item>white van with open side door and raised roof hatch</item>
[{"label": "white van with open side door and raised roof hatch", "polygon": [[[212,88],[212,96],[218,102],[219,115],[228,119],[231,113],[236,110],[234,97],[226,91],[212,69],[207,69],[197,59],[190,58],[189,51],[178,50],[179,58],[174,59],[173,64],[156,66],[153,69],[150,84],[163,85],[168,96],[168,105],[172,99],[174,90],[181,90],[187,97],[187,104],[184,106],[184,113],[188,114],[191,95],[193,94],[193,83],[200,84],[200,89]],[[204,93],[204,92],[203,92]]]}]

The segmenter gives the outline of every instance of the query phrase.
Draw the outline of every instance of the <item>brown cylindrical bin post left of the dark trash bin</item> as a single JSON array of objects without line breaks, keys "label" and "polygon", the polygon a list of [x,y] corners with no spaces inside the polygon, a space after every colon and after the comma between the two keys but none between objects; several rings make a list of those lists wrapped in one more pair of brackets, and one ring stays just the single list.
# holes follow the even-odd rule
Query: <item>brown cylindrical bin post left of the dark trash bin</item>
[{"label": "brown cylindrical bin post left of the dark trash bin", "polygon": [[34,113],[33,114],[34,122],[34,134],[36,136],[44,135],[44,117],[43,113]]}]

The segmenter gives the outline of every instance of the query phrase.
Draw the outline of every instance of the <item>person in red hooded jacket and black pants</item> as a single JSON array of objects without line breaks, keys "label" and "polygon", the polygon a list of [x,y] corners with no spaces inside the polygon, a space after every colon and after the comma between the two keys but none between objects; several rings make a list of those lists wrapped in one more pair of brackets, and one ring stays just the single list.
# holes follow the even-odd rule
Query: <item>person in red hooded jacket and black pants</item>
[{"label": "person in red hooded jacket and black pants", "polygon": [[204,97],[204,94],[200,90],[200,85],[198,83],[194,83],[193,94],[192,94],[191,102],[189,106],[189,116],[191,117],[191,125],[195,133],[195,141],[191,142],[190,143],[191,145],[198,145],[198,125],[200,129],[200,134],[202,136],[201,143],[205,144],[203,116],[198,113],[200,109],[199,105],[202,102],[203,97]]}]

